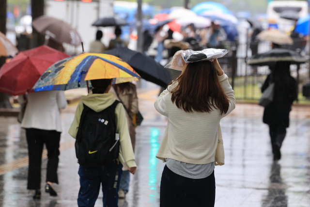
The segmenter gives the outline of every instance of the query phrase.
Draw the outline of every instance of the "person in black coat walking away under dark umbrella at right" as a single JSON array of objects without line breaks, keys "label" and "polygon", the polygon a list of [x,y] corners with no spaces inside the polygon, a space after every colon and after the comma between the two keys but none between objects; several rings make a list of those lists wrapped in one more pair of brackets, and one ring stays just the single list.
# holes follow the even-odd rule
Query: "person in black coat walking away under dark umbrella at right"
[{"label": "person in black coat walking away under dark umbrella at right", "polygon": [[275,83],[273,101],[265,108],[263,123],[269,125],[274,160],[281,159],[280,148],[290,124],[290,111],[297,99],[297,82],[290,74],[289,62],[277,62],[265,80],[262,93]]}]

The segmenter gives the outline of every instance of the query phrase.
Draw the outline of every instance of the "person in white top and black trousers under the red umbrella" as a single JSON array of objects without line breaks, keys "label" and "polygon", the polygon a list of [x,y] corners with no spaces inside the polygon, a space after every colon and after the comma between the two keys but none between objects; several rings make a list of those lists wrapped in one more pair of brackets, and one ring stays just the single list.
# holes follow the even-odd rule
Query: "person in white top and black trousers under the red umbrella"
[{"label": "person in white top and black trousers under the red umbrella", "polygon": [[57,196],[53,183],[58,184],[57,168],[60,135],[62,132],[60,111],[66,108],[63,91],[42,91],[28,94],[26,111],[21,127],[26,129],[29,153],[27,189],[35,190],[34,199],[41,197],[41,160],[44,143],[47,147],[46,192]]}]

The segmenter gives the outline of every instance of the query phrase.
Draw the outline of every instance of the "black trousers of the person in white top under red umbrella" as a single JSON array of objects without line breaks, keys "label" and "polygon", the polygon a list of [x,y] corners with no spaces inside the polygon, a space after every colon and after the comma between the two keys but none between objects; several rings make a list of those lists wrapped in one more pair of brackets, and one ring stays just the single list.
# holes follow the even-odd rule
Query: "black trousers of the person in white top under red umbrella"
[{"label": "black trousers of the person in white top under red umbrella", "polygon": [[27,189],[36,190],[41,186],[41,162],[43,145],[47,147],[47,179],[46,182],[58,183],[57,168],[59,142],[61,132],[26,128],[26,137],[29,154],[29,170]]}]

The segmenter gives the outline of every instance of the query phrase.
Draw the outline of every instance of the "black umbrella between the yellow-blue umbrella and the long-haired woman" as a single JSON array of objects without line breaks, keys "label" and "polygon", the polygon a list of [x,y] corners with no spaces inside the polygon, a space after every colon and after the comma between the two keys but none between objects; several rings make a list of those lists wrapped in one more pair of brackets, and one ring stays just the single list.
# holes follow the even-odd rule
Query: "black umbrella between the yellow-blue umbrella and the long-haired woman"
[{"label": "black umbrella between the yellow-blue umbrella and the long-haired woman", "polygon": [[168,71],[161,64],[156,63],[154,59],[140,52],[128,48],[114,48],[104,53],[121,58],[145,80],[163,87],[167,87],[171,82]]}]

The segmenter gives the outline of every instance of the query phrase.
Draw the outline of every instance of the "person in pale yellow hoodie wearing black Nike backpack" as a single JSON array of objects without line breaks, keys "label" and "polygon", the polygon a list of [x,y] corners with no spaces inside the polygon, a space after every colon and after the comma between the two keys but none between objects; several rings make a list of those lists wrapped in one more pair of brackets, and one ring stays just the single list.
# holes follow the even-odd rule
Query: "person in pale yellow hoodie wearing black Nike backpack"
[{"label": "person in pale yellow hoodie wearing black Nike backpack", "polygon": [[118,207],[122,163],[133,175],[137,165],[124,106],[108,93],[112,79],[91,80],[93,94],[82,96],[69,134],[77,139],[80,165],[78,207],[93,207],[102,184],[103,206]]}]

